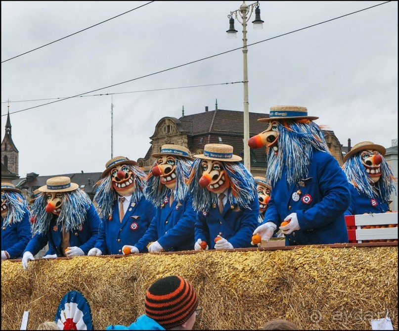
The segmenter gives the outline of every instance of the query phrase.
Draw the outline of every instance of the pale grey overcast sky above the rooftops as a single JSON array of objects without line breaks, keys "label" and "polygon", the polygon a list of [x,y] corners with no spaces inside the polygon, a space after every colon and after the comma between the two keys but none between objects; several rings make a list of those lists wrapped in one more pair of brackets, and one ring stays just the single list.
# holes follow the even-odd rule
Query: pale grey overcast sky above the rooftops
[{"label": "pale grey overcast sky above the rooftops", "polygon": [[[260,1],[264,28],[247,27],[248,45],[259,42],[248,47],[249,111],[306,106],[344,146],[351,138],[390,147],[398,138],[398,2],[290,33],[380,3]],[[217,99],[219,109],[242,111],[242,83],[223,84],[243,80],[242,50],[227,52],[243,46],[241,24],[237,39],[226,34],[227,15],[241,4],[1,1],[1,139],[9,99],[20,177],[105,169],[111,95],[90,95],[114,94],[113,156],[134,160],[146,154],[158,121],[179,118],[182,106],[196,114],[214,110]],[[170,90],[140,92],[160,89]],[[48,100],[25,101],[36,99]]]}]

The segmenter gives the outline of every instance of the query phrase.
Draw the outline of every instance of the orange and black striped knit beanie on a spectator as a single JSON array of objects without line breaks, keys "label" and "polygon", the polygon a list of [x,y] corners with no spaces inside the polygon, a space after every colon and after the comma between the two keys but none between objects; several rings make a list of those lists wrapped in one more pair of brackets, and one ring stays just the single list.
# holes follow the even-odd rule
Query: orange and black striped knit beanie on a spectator
[{"label": "orange and black striped knit beanie on a spectator", "polygon": [[153,283],[144,300],[145,315],[167,330],[183,325],[197,306],[194,288],[178,276],[168,276]]}]

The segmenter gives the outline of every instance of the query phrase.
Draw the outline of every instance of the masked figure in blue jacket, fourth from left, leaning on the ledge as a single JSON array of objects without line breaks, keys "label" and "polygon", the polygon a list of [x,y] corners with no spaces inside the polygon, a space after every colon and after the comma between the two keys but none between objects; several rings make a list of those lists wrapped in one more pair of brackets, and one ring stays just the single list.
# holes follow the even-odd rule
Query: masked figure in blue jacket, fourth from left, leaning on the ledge
[{"label": "masked figure in blue jacket, fourth from left, leaning on the ledge", "polygon": [[[187,192],[191,166],[191,153],[186,147],[165,144],[147,177],[146,196],[157,208],[144,236],[134,246],[127,245],[132,253],[148,251],[181,251],[194,249],[195,211]],[[125,247],[124,247],[125,248]]]}]

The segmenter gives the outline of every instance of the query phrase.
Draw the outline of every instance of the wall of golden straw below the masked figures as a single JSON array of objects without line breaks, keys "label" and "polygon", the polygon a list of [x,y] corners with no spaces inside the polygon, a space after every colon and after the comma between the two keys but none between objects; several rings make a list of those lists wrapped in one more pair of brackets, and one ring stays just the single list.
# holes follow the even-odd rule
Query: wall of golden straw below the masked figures
[{"label": "wall of golden straw below the masked figures", "polygon": [[179,275],[196,288],[196,330],[257,330],[283,318],[306,330],[369,330],[390,313],[398,329],[398,246],[147,253],[126,257],[1,261],[1,330],[52,320],[70,290],[88,300],[93,326],[130,325],[157,279]]}]

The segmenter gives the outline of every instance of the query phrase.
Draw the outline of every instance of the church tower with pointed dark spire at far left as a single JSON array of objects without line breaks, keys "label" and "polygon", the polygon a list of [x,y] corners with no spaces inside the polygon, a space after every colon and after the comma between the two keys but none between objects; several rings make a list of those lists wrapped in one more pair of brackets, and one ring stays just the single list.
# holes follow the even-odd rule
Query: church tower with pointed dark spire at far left
[{"label": "church tower with pointed dark spire at far left", "polygon": [[[5,169],[3,168],[5,167]],[[5,135],[1,142],[1,177],[3,170],[8,170],[18,178],[18,149],[11,138],[11,121],[9,105],[7,111],[7,122],[5,123]]]}]

